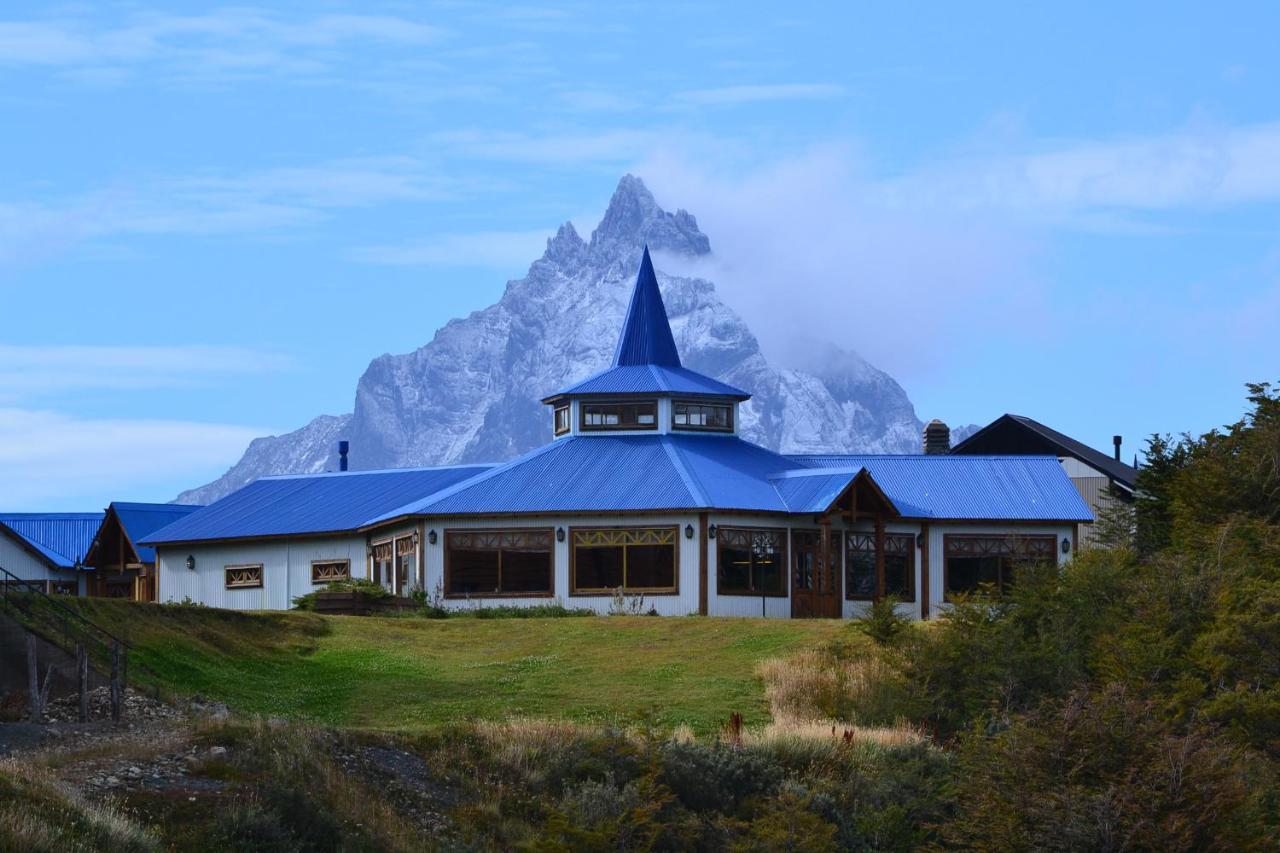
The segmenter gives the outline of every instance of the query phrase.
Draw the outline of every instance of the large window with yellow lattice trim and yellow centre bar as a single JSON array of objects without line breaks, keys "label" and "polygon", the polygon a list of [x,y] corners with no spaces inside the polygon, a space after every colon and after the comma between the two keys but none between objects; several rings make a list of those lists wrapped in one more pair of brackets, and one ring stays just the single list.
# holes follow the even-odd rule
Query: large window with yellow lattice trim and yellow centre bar
[{"label": "large window with yellow lattice trim and yellow centre bar", "polygon": [[676,528],[573,530],[573,593],[676,592]]}]

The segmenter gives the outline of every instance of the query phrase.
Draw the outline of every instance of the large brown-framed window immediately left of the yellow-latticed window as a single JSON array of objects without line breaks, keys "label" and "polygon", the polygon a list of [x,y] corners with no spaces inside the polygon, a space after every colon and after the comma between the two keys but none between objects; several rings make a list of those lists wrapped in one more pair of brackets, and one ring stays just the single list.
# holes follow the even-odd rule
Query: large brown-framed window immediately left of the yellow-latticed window
[{"label": "large brown-framed window immediately left of the yellow-latticed window", "polygon": [[445,530],[445,596],[549,596],[550,530]]}]

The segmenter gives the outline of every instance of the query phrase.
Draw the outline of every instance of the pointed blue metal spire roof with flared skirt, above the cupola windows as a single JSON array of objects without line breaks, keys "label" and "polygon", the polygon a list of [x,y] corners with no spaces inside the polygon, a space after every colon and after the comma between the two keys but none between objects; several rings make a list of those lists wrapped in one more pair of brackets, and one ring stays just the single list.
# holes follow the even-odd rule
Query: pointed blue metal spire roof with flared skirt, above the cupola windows
[{"label": "pointed blue metal spire roof with flared skirt, above the cupola windows", "polygon": [[547,397],[580,394],[699,394],[735,397],[748,400],[751,394],[741,388],[704,377],[680,364],[676,338],[671,334],[671,321],[667,307],[658,291],[658,277],[653,272],[649,247],[640,259],[640,272],[636,275],[627,316],[622,323],[622,334],[613,352],[613,364],[600,373],[570,386]]}]

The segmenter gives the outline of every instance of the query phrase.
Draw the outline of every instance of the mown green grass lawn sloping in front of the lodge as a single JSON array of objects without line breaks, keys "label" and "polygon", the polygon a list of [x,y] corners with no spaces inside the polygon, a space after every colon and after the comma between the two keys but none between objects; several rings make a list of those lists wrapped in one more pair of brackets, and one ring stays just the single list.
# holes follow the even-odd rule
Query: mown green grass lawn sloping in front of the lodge
[{"label": "mown green grass lawn sloping in front of the lodge", "polygon": [[[509,716],[714,731],[768,717],[755,665],[847,631],[827,620],[367,619],[79,599],[163,686],[232,708],[421,731]],[[141,676],[141,674],[138,674]]]}]

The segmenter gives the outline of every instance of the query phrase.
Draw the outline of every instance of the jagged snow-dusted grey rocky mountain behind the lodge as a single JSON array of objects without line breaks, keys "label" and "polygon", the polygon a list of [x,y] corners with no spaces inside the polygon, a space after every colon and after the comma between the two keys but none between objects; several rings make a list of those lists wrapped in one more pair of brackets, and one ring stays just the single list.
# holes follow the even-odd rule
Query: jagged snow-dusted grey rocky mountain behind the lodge
[{"label": "jagged snow-dusted grey rocky mountain behind the lodge", "polygon": [[626,175],[590,241],[561,225],[497,304],[451,320],[415,352],[375,359],[353,414],[257,438],[227,474],[178,500],[334,470],[339,438],[351,441],[352,469],[502,461],[545,443],[550,411],[539,400],[608,366],[645,243],[685,366],[751,392],[745,438],[785,453],[919,451],[922,423],[892,377],[826,343],[800,369],[771,365],[714,284],[664,274],[664,255],[707,255],[710,243],[692,215],[662,210]]}]

